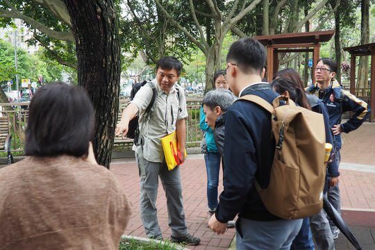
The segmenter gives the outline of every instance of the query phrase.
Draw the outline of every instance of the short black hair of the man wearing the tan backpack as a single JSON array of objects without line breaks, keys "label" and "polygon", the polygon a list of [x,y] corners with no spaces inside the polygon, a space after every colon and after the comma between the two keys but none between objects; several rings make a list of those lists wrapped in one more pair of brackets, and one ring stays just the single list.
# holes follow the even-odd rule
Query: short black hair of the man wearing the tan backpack
[{"label": "short black hair of the man wearing the tan backpack", "polygon": [[253,38],[242,38],[231,45],[226,56],[227,63],[236,63],[244,73],[261,74],[267,53],[263,44]]}]

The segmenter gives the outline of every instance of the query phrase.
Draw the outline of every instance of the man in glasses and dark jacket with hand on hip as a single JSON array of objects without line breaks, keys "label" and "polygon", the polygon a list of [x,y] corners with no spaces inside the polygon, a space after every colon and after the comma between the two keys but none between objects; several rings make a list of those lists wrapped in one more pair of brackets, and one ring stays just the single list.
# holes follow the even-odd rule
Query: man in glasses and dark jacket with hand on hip
[{"label": "man in glasses and dark jacket with hand on hip", "polygon": [[[369,117],[367,103],[358,99],[350,92],[344,90],[335,79],[338,69],[335,60],[321,58],[315,68],[315,79],[317,83],[306,88],[306,92],[315,94],[324,101],[329,114],[329,124],[333,133],[333,142],[336,151],[336,160],[340,165],[341,133],[349,133],[356,130]],[[352,117],[347,122],[341,123],[342,113],[353,112]],[[338,186],[338,176],[331,176],[328,189],[328,200],[340,213],[340,189]],[[338,238],[340,230],[330,221],[333,239]]]}]

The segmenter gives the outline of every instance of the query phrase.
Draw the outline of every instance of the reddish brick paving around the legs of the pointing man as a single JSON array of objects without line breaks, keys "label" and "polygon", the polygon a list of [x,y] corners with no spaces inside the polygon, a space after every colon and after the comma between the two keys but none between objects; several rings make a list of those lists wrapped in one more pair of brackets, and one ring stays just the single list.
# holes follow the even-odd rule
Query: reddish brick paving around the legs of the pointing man
[{"label": "reddish brick paving around the legs of the pointing man", "polygon": [[[224,235],[215,235],[207,227],[206,168],[204,167],[203,158],[201,156],[198,157],[199,159],[188,159],[183,167],[181,167],[186,222],[190,233],[201,238],[201,245],[189,248],[228,249],[235,234],[235,230],[232,228],[228,229]],[[115,173],[118,180],[122,183],[124,190],[126,190],[128,194],[129,201],[133,204],[133,214],[125,234],[146,237],[140,221],[140,186],[138,168],[135,162],[113,163],[111,165],[111,171]],[[222,186],[222,183],[219,185]],[[219,191],[221,192],[222,189]],[[158,218],[163,231],[163,238],[169,238],[170,230],[167,226],[167,206],[161,184],[158,189],[156,206],[158,208]]]}]

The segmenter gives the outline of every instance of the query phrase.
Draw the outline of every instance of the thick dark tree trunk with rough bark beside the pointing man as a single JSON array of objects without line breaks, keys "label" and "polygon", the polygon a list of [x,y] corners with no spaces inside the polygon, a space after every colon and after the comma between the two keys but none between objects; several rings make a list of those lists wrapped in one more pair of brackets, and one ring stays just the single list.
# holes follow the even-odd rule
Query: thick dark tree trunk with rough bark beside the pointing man
[{"label": "thick dark tree trunk with rough bark beside the pointing man", "polygon": [[109,168],[119,106],[119,26],[112,0],[64,0],[72,20],[78,85],[95,109],[94,152]]}]

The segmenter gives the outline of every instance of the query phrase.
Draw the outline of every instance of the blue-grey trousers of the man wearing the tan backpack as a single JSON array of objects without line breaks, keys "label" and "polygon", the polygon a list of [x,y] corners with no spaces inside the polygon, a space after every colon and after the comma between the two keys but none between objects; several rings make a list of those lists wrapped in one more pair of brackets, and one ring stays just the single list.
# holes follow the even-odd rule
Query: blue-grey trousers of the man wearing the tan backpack
[{"label": "blue-grey trousers of the man wearing the tan backpack", "polygon": [[292,240],[301,229],[302,219],[278,219],[258,222],[239,217],[236,229],[237,250],[289,250]]}]

